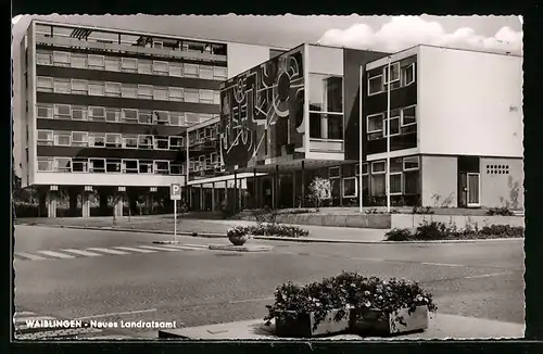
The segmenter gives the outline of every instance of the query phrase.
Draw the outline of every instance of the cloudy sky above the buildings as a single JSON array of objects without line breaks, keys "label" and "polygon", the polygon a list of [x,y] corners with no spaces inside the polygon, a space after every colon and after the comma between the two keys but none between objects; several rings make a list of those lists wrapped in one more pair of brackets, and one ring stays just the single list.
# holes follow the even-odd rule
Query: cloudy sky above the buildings
[{"label": "cloudy sky above the buildings", "polygon": [[[14,91],[20,86],[18,46],[33,18],[156,34],[237,41],[290,49],[303,42],[377,51],[400,51],[419,43],[493,52],[522,53],[519,16],[151,16],[17,15],[12,18]],[[20,100],[13,99],[17,116]],[[17,119],[15,118],[15,127]],[[15,137],[15,139],[17,139]],[[14,154],[21,149],[15,141]],[[18,167],[15,166],[17,169]]]}]

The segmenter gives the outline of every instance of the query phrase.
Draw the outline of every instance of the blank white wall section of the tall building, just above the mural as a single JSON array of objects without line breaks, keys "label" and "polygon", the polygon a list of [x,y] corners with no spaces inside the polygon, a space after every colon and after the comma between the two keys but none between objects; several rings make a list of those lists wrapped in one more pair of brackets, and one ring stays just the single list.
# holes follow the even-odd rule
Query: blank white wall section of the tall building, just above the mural
[{"label": "blank white wall section of the tall building, just above the mural", "polygon": [[269,60],[269,47],[228,43],[227,51],[228,78]]}]

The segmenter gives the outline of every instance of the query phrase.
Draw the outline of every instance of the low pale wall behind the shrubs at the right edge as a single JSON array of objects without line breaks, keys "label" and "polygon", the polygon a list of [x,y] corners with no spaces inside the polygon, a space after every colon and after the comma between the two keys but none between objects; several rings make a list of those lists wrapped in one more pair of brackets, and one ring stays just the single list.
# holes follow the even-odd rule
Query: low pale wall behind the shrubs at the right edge
[{"label": "low pale wall behind the shrubs at the right edge", "polygon": [[456,225],[457,228],[464,229],[469,227],[483,227],[490,225],[508,225],[512,227],[525,227],[523,216],[482,216],[482,215],[425,215],[425,214],[392,214],[391,228],[413,228],[424,222],[443,223],[447,225]]}]

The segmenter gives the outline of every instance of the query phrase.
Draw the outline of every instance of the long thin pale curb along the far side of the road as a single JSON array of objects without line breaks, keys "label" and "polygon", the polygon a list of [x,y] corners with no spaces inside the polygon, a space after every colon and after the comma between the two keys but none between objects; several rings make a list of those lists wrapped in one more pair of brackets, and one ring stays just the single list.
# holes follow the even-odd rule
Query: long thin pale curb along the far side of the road
[{"label": "long thin pale curb along the far side of the road", "polygon": [[[164,230],[142,230],[142,229],[128,229],[128,228],[113,228],[113,227],[96,227],[96,226],[63,226],[63,225],[43,225],[43,224],[18,224],[26,226],[45,226],[64,229],[78,229],[78,230],[100,230],[100,231],[119,231],[119,232],[138,232],[138,233],[159,233],[159,235],[174,235],[173,231]],[[177,236],[186,237],[201,237],[209,239],[223,239],[226,238],[222,233],[213,232],[189,232],[179,231]],[[342,240],[342,239],[315,239],[315,238],[292,238],[292,237],[273,237],[273,236],[253,236],[255,240],[270,240],[270,241],[290,241],[290,242],[305,242],[305,243],[345,243],[345,244],[428,244],[428,243],[476,243],[476,242],[504,242],[523,240],[523,238],[496,238],[496,239],[476,239],[476,240],[431,240],[431,241],[376,241],[376,240]]]}]

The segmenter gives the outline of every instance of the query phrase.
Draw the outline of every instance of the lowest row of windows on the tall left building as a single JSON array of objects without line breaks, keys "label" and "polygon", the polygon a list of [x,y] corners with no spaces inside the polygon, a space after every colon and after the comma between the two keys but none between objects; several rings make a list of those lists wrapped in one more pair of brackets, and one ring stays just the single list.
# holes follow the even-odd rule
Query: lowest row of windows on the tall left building
[{"label": "lowest row of windows on the tall left building", "polygon": [[156,174],[182,175],[182,164],[166,160],[135,159],[73,159],[38,156],[38,172],[96,173],[96,174]]}]

